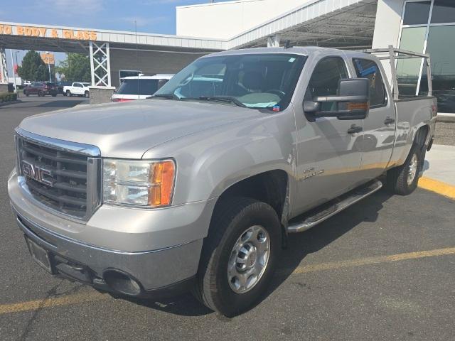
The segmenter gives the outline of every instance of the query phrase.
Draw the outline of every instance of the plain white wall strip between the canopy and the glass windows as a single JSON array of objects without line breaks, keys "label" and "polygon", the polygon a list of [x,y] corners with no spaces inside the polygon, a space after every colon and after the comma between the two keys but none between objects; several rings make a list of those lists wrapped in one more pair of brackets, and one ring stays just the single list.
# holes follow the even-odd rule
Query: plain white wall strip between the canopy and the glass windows
[{"label": "plain white wall strip between the canopy and the glass windows", "polygon": [[[387,48],[393,45],[400,46],[400,25],[404,0],[378,0],[376,12],[375,33],[373,36],[373,48]],[[389,60],[382,60],[385,72],[391,80]]]}]

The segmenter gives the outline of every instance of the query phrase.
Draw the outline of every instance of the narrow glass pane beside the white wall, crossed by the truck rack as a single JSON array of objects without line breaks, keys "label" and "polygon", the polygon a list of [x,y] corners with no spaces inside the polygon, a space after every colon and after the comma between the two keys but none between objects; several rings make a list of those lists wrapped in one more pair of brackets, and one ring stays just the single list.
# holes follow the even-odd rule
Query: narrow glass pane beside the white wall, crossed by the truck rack
[{"label": "narrow glass pane beside the white wall, crossed by the truck rack", "polygon": [[[400,48],[422,53],[426,31],[426,27],[403,28]],[[415,96],[421,63],[422,59],[419,58],[399,59],[397,61],[397,81],[400,97]]]}]

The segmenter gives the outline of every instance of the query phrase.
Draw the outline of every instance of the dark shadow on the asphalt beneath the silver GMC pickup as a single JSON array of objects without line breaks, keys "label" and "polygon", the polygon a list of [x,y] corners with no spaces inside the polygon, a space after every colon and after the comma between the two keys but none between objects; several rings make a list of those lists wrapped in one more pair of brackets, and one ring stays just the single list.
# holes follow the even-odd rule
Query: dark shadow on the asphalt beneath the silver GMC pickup
[{"label": "dark shadow on the asphalt beneath the silver GMC pickup", "polygon": [[[366,197],[361,203],[359,202],[352,207],[348,207],[343,212],[329,218],[313,229],[291,235],[289,246],[282,252],[279,262],[280,265],[277,269],[278,275],[274,276],[267,292],[260,298],[256,305],[279,288],[291,276],[292,271],[300,265],[306,255],[323,249],[361,222],[375,222],[378,219],[380,210],[382,210],[382,203],[387,201],[391,196],[386,190],[380,190],[378,193]],[[361,207],[361,210],[359,210],[359,207]],[[302,285],[304,286],[305,284],[302,283]],[[210,309],[200,304],[189,293],[174,298],[160,299],[159,301],[139,300],[135,298],[122,299],[175,315],[200,316],[212,313]],[[255,307],[253,306],[252,308]]]}]

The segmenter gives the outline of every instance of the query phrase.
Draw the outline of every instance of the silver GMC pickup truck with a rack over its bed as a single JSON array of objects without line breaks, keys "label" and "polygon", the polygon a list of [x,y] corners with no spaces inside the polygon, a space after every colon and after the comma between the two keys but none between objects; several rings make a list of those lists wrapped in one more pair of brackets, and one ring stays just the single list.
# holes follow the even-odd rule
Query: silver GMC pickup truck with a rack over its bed
[{"label": "silver GMC pickup truck with a rack over its bed", "polygon": [[24,119],[8,190],[33,259],[114,295],[192,289],[224,315],[247,310],[294,232],[382,181],[417,187],[437,102],[431,77],[399,95],[398,52],[231,50],[149,100]]}]

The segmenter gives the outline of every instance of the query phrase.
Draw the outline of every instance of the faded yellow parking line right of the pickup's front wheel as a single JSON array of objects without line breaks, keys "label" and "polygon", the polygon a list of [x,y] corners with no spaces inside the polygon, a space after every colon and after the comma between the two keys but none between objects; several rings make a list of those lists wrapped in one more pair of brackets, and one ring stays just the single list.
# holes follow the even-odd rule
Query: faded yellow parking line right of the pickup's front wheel
[{"label": "faded yellow parking line right of the pickup's front wheel", "polygon": [[408,259],[419,259],[425,257],[434,257],[434,256],[444,256],[446,254],[455,254],[455,247],[447,249],[435,249],[429,251],[416,251],[416,252],[407,252],[405,254],[392,254],[390,256],[376,256],[376,257],[366,257],[360,259],[350,259],[347,261],[332,261],[329,263],[321,264],[311,264],[305,266],[298,266],[294,271],[280,271],[279,274],[305,274],[307,272],[314,271],[323,271],[323,270],[333,270],[333,269],[342,269],[349,268],[353,266],[363,266],[369,264],[380,264],[380,263],[390,263],[392,261],[405,261]]}]

